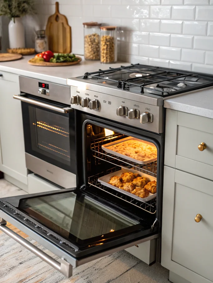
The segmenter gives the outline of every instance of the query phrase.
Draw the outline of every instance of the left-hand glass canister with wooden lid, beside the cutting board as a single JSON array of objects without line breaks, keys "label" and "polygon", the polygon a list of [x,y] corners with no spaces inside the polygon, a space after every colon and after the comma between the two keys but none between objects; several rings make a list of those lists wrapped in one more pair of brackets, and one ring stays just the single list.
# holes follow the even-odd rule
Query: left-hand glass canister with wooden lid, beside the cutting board
[{"label": "left-hand glass canister with wooden lid, beside the cutting board", "polygon": [[100,25],[97,22],[84,25],[84,57],[86,60],[100,60]]}]

